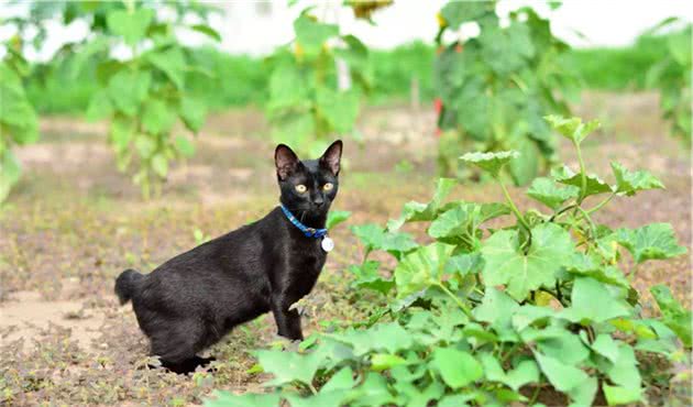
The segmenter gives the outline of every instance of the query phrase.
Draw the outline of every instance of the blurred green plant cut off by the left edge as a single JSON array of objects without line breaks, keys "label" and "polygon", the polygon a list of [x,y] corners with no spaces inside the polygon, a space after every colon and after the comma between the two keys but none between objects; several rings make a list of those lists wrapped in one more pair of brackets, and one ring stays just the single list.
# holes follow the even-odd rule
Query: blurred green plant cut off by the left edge
[{"label": "blurred green plant cut off by the left edge", "polygon": [[38,119],[22,82],[29,64],[22,57],[18,37],[3,45],[7,54],[0,61],[0,204],[22,172],[12,147],[38,140]]}]

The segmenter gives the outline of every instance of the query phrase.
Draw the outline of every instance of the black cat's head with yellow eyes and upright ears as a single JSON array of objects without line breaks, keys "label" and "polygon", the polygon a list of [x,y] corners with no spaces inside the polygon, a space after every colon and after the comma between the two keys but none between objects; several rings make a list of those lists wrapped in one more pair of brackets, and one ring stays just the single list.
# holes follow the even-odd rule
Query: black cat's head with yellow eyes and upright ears
[{"label": "black cat's head with yellow eyes and upright ears", "polygon": [[277,145],[274,163],[280,201],[298,219],[327,213],[339,189],[342,141],[332,143],[317,160],[300,161],[287,145]]}]

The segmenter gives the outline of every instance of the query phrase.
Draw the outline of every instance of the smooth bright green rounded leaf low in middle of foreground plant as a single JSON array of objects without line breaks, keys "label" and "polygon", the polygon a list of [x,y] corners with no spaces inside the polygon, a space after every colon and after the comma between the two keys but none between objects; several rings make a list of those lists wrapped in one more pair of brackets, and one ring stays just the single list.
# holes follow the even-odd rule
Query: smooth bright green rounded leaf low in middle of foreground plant
[{"label": "smooth bright green rounded leaf low in middle of foreground plant", "polygon": [[454,389],[482,378],[484,374],[482,365],[471,354],[453,348],[436,348],[431,365]]}]

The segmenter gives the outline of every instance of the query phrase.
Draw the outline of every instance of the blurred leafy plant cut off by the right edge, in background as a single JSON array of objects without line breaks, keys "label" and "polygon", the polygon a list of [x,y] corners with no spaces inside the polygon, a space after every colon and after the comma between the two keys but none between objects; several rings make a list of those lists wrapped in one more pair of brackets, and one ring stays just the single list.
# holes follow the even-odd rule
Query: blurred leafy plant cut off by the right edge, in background
[{"label": "blurred leafy plant cut off by the right edge, in background", "polygon": [[[678,19],[667,19],[647,34],[657,32]],[[647,86],[658,88],[664,119],[671,122],[671,134],[691,144],[691,30],[686,24],[680,31],[667,35],[667,56],[647,73]]]}]

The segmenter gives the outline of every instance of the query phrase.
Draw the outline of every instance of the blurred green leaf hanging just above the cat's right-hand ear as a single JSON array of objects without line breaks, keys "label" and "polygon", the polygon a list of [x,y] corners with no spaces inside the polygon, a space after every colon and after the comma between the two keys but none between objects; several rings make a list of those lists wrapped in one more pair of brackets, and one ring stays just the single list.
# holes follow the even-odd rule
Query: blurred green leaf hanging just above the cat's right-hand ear
[{"label": "blurred green leaf hanging just above the cat's right-hand ear", "polygon": [[359,116],[359,94],[319,87],[316,90],[316,103],[318,114],[324,118],[336,132],[352,131]]}]

